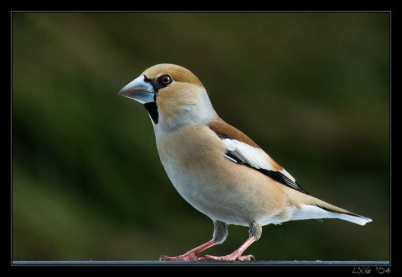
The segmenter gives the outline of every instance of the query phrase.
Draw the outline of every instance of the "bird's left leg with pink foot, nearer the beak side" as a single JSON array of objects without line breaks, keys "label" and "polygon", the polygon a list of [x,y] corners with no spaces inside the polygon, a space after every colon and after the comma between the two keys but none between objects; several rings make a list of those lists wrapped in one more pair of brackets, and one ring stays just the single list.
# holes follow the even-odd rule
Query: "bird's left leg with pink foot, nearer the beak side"
[{"label": "bird's left leg with pink foot, nearer the beak side", "polygon": [[191,249],[190,251],[187,251],[183,255],[177,256],[177,257],[169,257],[165,255],[161,255],[159,257],[159,260],[163,261],[191,261],[191,260],[197,260],[196,255],[207,249],[208,247],[211,247],[215,244],[220,244],[222,243],[228,235],[228,226],[226,223],[221,222],[221,221],[214,221],[214,238],[210,240],[207,243],[204,243],[203,245],[200,245],[198,247],[195,247],[194,249]]}]

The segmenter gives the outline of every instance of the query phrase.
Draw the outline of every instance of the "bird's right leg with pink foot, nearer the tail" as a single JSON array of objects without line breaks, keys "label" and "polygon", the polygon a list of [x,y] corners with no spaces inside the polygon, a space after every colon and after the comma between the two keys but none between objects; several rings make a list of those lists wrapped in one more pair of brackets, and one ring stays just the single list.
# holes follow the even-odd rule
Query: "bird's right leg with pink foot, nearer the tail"
[{"label": "bird's right leg with pink foot, nearer the tail", "polygon": [[253,242],[258,240],[261,236],[261,225],[256,224],[256,223],[251,223],[250,224],[250,237],[246,240],[245,243],[243,243],[242,246],[239,247],[236,251],[233,251],[231,254],[226,255],[226,256],[211,256],[211,255],[202,255],[197,258],[197,260],[215,260],[215,261],[234,261],[234,260],[239,260],[239,261],[250,261],[251,258],[254,258],[253,255],[246,255],[242,256],[242,253],[244,250],[246,250],[247,247],[250,246]]}]

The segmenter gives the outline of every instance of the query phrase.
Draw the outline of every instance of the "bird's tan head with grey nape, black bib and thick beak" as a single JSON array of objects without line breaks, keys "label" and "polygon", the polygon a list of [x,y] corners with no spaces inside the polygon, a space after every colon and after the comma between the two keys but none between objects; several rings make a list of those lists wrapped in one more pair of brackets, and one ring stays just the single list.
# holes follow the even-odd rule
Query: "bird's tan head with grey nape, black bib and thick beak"
[{"label": "bird's tan head with grey nape, black bib and thick beak", "polygon": [[186,124],[205,124],[217,117],[203,84],[175,64],[148,68],[119,95],[143,104],[154,126],[167,131]]}]

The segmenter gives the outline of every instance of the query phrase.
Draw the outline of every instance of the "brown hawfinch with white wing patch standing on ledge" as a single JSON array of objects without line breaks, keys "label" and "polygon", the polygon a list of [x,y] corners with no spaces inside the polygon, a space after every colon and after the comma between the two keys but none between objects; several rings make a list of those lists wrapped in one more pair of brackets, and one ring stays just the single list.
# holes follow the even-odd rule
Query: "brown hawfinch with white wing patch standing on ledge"
[{"label": "brown hawfinch with white wing patch standing on ledge", "polygon": [[[243,252],[268,224],[323,218],[359,225],[372,221],[311,196],[251,138],[218,116],[207,89],[182,66],[151,66],[118,95],[145,107],[171,183],[214,223],[210,241],[159,260],[250,261],[255,257]],[[223,243],[231,224],[249,227],[248,239],[237,250],[225,256],[200,254]]]}]

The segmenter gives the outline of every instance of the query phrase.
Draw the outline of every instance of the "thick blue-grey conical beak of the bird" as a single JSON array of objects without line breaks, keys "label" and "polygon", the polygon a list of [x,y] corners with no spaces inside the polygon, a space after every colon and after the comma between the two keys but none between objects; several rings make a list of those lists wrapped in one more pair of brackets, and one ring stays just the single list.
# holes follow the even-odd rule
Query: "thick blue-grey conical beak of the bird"
[{"label": "thick blue-grey conical beak of the bird", "polygon": [[125,86],[118,95],[134,99],[141,104],[154,102],[155,91],[151,83],[145,82],[145,76],[141,75]]}]

